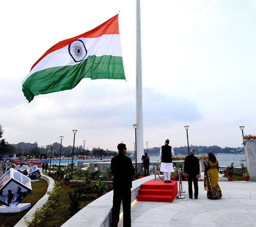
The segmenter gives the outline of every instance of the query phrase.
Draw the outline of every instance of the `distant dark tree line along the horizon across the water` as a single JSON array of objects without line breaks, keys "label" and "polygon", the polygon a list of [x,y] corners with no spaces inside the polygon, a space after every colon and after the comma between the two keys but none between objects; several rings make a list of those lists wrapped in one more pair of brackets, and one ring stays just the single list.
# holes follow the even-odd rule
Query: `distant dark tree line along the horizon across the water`
[{"label": "distant dark tree line along the horizon across the water", "polygon": [[[3,137],[3,129],[2,125],[0,124],[0,139]],[[243,147],[225,147],[221,148],[220,146],[213,145],[213,146],[196,146],[190,145],[189,149],[195,149],[196,154],[208,154],[208,152],[214,152],[215,154],[238,154],[243,153]],[[71,157],[72,155],[73,146],[63,146],[61,145],[61,156]],[[144,149],[144,153],[148,153],[148,155],[156,156],[159,155],[160,147],[153,147]],[[175,155],[187,155],[188,148],[187,146],[181,147],[174,147]],[[60,143],[55,142],[53,146],[50,144],[46,146],[38,146],[37,142],[34,143],[25,143],[19,142],[17,144],[10,144],[5,141],[5,139],[0,140],[0,155],[16,155],[16,157],[49,157],[52,153],[52,156],[59,157],[60,156]],[[129,154],[133,155],[134,151],[128,151]],[[94,156],[96,158],[102,157],[113,157],[117,155],[117,152],[113,150],[104,150],[102,148],[94,147],[92,150],[83,149],[83,146],[75,146],[74,147],[74,155],[75,156]]]}]

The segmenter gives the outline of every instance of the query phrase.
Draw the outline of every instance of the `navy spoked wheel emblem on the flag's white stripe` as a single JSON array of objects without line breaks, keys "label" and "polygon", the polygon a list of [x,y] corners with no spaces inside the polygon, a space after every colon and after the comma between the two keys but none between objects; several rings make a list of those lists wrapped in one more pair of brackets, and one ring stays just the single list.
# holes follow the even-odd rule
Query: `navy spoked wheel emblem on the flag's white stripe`
[{"label": "navy spoked wheel emblem on the flag's white stripe", "polygon": [[76,41],[69,44],[69,54],[75,62],[82,61],[87,55],[87,49],[83,41],[77,39]]}]

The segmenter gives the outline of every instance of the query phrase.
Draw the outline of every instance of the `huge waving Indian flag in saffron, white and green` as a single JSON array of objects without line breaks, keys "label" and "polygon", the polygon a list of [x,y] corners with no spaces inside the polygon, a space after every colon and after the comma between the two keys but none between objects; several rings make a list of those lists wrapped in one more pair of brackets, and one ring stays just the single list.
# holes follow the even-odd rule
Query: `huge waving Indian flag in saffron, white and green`
[{"label": "huge waving Indian flag in saffron, white and green", "polygon": [[118,14],[97,28],[52,46],[22,82],[25,97],[74,88],[83,78],[125,80]]}]

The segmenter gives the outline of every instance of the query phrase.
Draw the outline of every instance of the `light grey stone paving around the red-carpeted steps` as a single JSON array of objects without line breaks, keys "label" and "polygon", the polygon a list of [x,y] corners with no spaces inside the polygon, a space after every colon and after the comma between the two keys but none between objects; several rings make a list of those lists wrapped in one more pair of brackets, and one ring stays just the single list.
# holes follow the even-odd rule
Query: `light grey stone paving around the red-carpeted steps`
[{"label": "light grey stone paving around the red-carpeted steps", "polygon": [[[185,198],[175,198],[173,203],[135,200],[132,203],[132,227],[256,226],[256,182],[227,182],[220,175],[222,198],[217,200],[207,199],[203,181],[199,181],[198,199],[189,199],[188,184],[182,183],[186,192],[181,195]],[[122,227],[122,219],[118,227]]]}]

